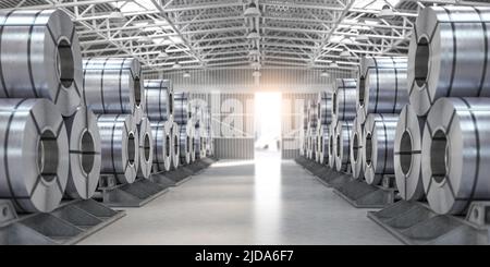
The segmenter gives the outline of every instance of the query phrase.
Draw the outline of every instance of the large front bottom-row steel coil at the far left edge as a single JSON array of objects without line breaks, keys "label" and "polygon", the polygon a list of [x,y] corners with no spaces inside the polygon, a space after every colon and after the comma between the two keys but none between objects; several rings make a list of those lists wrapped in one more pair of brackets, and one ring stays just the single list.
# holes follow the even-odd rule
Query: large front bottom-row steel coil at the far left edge
[{"label": "large front bottom-row steel coil at the far left edge", "polygon": [[0,198],[21,213],[58,207],[69,175],[66,129],[47,99],[0,99]]}]

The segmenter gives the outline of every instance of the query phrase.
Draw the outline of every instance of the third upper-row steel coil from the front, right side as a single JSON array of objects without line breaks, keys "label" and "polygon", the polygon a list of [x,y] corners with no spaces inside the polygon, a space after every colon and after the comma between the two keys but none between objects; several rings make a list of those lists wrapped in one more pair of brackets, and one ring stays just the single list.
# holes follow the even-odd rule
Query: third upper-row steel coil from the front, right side
[{"label": "third upper-row steel coil from the front, right side", "polygon": [[332,93],[332,116],[336,121],[353,121],[356,118],[356,80],[338,78]]}]

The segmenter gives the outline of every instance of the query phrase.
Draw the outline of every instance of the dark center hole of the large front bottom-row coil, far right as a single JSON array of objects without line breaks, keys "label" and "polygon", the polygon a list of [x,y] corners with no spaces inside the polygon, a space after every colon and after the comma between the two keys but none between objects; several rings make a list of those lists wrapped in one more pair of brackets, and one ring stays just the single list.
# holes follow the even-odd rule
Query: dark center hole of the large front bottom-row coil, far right
[{"label": "dark center hole of the large front bottom-row coil, far right", "polygon": [[448,173],[448,136],[442,130],[436,131],[430,145],[430,168],[433,180],[442,183]]}]

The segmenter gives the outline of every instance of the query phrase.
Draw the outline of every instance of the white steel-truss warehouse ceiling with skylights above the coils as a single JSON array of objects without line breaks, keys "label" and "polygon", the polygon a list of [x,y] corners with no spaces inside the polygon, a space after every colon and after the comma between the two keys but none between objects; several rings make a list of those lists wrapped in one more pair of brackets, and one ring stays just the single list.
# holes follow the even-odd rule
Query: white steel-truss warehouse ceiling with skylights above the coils
[{"label": "white steel-truss warehouse ceiling with skylights above the coils", "polygon": [[456,2],[477,1],[2,0],[0,9],[63,9],[84,57],[137,57],[146,71],[355,70],[366,54],[406,54],[417,10]]}]

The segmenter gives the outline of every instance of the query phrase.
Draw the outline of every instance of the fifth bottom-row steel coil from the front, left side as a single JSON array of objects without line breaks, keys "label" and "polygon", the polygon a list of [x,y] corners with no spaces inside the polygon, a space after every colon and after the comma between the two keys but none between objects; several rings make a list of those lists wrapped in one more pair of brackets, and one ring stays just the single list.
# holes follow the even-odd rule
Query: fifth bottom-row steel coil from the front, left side
[{"label": "fifth bottom-row steel coil from the front, left side", "polygon": [[170,171],[172,159],[172,123],[151,122],[154,136],[154,172]]}]

